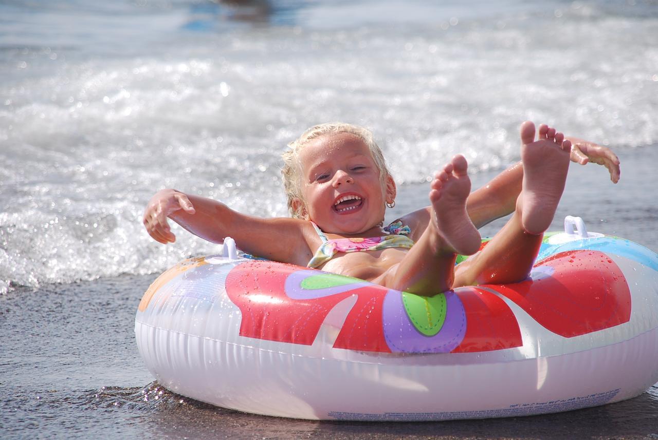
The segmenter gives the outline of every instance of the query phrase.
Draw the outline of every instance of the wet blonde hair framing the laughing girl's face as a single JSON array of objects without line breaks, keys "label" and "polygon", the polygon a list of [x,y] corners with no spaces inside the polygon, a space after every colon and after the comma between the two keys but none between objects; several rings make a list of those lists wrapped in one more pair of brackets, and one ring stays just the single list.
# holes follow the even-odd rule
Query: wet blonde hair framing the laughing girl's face
[{"label": "wet blonde hair framing the laughing girl's face", "polygon": [[368,146],[368,150],[370,150],[370,154],[372,155],[372,160],[374,160],[374,163],[380,171],[379,179],[382,183],[382,188],[386,187],[386,178],[390,177],[391,172],[389,171],[388,166],[386,166],[384,154],[374,141],[374,137],[372,137],[370,130],[350,123],[321,123],[307,129],[307,131],[302,133],[299,138],[289,143],[289,150],[282,154],[284,167],[281,169],[281,173],[284,179],[284,190],[286,190],[286,196],[288,197],[288,211],[290,211],[292,217],[297,219],[303,218],[303,207],[299,206],[297,209],[294,209],[292,206],[292,202],[295,199],[299,199],[302,202],[304,201],[301,194],[301,162],[299,162],[298,158],[299,150],[309,142],[313,141],[313,139],[317,139],[324,135],[336,135],[338,133],[351,133],[356,135]]}]

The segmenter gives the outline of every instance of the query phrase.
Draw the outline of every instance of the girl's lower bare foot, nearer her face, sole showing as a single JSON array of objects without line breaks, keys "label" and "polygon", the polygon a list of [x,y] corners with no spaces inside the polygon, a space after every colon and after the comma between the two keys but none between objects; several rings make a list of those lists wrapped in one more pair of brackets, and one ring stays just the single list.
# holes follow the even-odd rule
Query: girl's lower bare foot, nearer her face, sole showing
[{"label": "girl's lower bare foot, nearer her face, sole showing", "polygon": [[449,252],[472,255],[480,249],[480,232],[466,211],[470,179],[466,158],[458,154],[434,176],[430,184],[433,224]]}]

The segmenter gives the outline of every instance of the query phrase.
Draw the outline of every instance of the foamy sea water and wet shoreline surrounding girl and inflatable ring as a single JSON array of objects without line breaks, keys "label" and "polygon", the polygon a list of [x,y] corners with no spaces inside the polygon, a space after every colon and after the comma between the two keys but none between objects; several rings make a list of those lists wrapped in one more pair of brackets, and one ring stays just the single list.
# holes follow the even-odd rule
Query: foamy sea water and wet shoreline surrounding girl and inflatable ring
[{"label": "foamy sea water and wet shoreline surrounding girl and inflatable ring", "polygon": [[[553,229],[580,215],[658,250],[657,41],[658,5],[642,0],[0,3],[0,434],[427,435],[263,422],[159,394],[132,339],[141,292],[218,248],[178,227],[176,244],[153,241],[147,201],[178,188],[286,215],[280,154],[340,120],[382,146],[399,185],[393,219],[426,205],[428,179],[458,152],[475,186],[519,160],[519,124],[533,120],[622,160],[618,185],[572,165]],[[590,431],[651,435],[657,394],[576,414]],[[580,416],[551,417],[518,423]],[[520,435],[507,423],[484,426]]]}]

